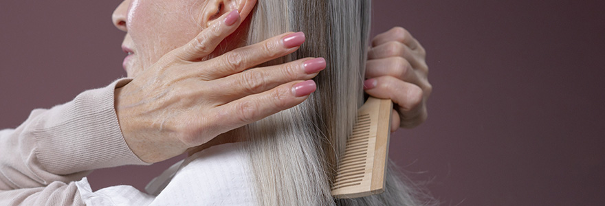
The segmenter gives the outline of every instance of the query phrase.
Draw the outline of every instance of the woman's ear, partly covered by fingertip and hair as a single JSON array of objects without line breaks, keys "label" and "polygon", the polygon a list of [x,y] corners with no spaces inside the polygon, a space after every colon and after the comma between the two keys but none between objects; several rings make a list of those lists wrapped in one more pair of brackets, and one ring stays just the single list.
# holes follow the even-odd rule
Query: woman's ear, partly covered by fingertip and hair
[{"label": "woman's ear, partly covered by fingertip and hair", "polygon": [[234,10],[239,12],[241,19],[245,19],[257,0],[207,0],[206,6],[202,8],[201,25],[207,28],[214,21],[217,21],[223,14],[227,14]]}]

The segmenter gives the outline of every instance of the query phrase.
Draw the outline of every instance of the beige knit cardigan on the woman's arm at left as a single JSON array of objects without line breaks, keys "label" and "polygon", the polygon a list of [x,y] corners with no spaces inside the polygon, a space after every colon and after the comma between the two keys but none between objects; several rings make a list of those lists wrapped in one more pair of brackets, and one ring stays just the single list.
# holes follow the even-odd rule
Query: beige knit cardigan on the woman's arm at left
[{"label": "beige knit cardigan on the woman's arm at left", "polygon": [[113,93],[130,79],[32,111],[0,130],[0,205],[84,205],[74,181],[92,170],[145,165],[126,145]]}]

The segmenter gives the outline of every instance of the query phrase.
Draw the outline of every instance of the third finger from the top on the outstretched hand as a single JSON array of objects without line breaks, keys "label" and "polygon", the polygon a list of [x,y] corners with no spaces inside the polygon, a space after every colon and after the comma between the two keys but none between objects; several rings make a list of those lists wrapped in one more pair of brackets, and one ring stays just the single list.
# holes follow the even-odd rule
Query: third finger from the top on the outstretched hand
[{"label": "third finger from the top on the outstretched hand", "polygon": [[213,80],[217,96],[230,102],[247,95],[261,93],[296,80],[310,80],[326,68],[324,58],[305,58],[283,65],[248,69],[232,76]]}]

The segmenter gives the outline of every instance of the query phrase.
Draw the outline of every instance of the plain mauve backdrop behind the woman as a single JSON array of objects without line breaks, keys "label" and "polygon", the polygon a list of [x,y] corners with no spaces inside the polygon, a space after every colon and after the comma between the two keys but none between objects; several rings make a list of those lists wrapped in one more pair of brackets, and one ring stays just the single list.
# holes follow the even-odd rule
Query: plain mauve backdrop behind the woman
[{"label": "plain mauve backdrop behind the woman", "polygon": [[[443,205],[605,204],[605,1],[375,1],[428,50],[428,121],[391,157]],[[0,1],[0,128],[125,76],[120,1]],[[98,170],[144,187],[170,163]]]}]

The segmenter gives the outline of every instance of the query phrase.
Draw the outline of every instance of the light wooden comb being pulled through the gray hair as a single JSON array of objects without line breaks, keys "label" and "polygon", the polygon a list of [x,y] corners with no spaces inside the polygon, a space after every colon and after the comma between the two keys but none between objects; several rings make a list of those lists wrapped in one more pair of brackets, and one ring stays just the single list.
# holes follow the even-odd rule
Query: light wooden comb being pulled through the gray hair
[{"label": "light wooden comb being pulled through the gray hair", "polygon": [[376,98],[368,98],[359,109],[331,187],[333,197],[358,198],[384,192],[392,111],[391,100]]}]

